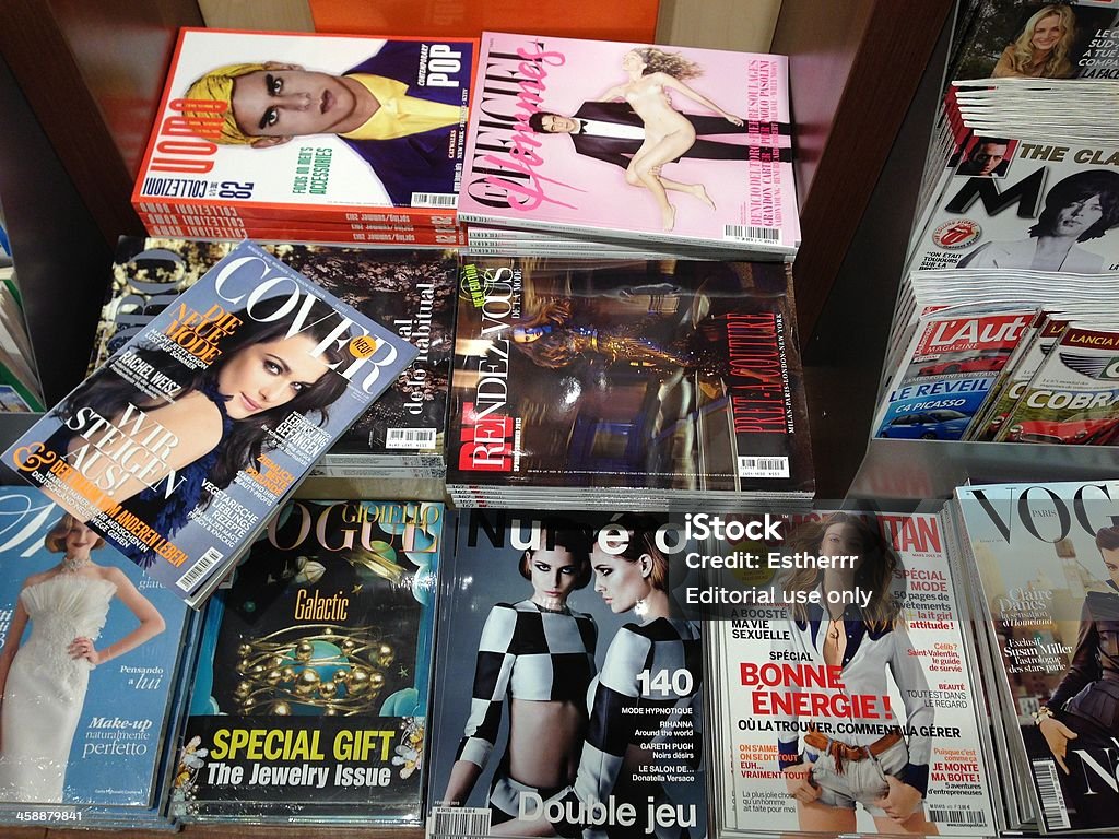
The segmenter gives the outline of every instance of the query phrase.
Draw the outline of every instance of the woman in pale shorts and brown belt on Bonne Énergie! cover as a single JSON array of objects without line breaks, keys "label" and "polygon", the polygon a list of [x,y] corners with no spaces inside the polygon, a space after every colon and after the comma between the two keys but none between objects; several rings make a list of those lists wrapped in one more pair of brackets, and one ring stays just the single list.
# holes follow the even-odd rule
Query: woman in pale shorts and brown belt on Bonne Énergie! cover
[{"label": "woman in pale shorts and brown belt on Bonne \u00c9nergie! cover", "polygon": [[[905,704],[905,726],[915,732],[909,742],[896,727],[838,737],[810,728],[802,741],[796,733],[781,735],[779,760],[788,795],[797,801],[800,829],[855,832],[855,807],[862,804],[882,833],[937,833],[922,807],[932,742],[920,734],[932,725],[933,709],[922,698],[928,682],[921,659],[913,654],[890,594],[897,557],[876,524],[846,512],[799,528],[786,541],[786,553],[796,552],[854,559],[824,569],[797,568],[782,581],[787,600],[793,592],[818,592],[820,601],[790,606],[790,640],[775,645],[811,666],[840,668],[848,697],[886,696],[888,670]],[[828,602],[831,593],[856,590],[871,593],[865,609]],[[849,719],[869,729],[884,725],[881,718],[864,719],[854,711]]]}]

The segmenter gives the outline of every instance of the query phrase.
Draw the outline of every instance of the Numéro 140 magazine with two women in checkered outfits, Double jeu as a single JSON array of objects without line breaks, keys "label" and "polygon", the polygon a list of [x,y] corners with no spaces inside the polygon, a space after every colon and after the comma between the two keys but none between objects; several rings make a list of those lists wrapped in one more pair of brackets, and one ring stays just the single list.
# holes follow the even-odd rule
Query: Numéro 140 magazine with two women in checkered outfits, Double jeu
[{"label": "Num\u00e9ro 140 magazine with two women in checkered outfits, Double jeu", "polygon": [[634,513],[458,513],[429,836],[706,836],[683,537]]}]

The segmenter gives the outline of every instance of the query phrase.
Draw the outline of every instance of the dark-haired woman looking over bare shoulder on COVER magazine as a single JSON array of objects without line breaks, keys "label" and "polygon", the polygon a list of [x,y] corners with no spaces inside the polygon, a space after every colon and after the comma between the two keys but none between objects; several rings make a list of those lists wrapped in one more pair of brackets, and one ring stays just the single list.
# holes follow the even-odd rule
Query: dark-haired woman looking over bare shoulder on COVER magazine
[{"label": "dark-haired woman looking over bare shoulder on COVER magazine", "polygon": [[[270,430],[291,414],[325,424],[329,406],[346,390],[341,376],[327,375],[328,364],[344,360],[335,345],[321,357],[310,355],[337,326],[337,318],[331,317],[335,310],[317,300],[305,317],[309,326],[289,338],[285,336],[298,309],[276,320],[257,320],[279,311],[286,301],[284,296],[260,301],[254,305],[255,318],[245,311],[233,312],[241,323],[217,340],[220,355],[208,368],[190,371],[167,352],[137,350],[134,355],[154,373],[181,385],[172,396],[151,396],[114,374],[111,359],[104,371],[87,379],[55,409],[63,425],[47,441],[47,447],[74,460],[83,446],[90,445],[90,452],[98,443],[109,449],[129,436],[139,412],[145,417],[138,437],[147,437],[158,423],[177,443],[169,446],[166,458],[158,459],[144,480],[126,478],[115,487],[112,498],[170,537],[187,524],[191,510],[209,502],[214,488],[225,489],[239,470],[256,462],[269,447]],[[121,432],[96,428],[85,436],[70,431],[67,421],[81,421],[84,409],[110,418],[113,426],[123,426]],[[107,460],[102,458],[83,469],[83,474],[92,481],[107,479]],[[170,498],[164,498],[164,479],[175,482]],[[154,556],[150,550],[121,549],[141,565],[150,564]]]}]

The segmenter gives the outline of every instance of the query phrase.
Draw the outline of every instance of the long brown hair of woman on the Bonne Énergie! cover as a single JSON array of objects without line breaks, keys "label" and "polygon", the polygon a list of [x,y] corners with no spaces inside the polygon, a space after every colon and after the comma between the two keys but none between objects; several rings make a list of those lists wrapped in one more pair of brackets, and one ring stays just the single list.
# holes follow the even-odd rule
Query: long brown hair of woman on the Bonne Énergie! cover
[{"label": "long brown hair of woman on the Bonne \u00c9nergie! cover", "polygon": [[[890,593],[890,581],[897,568],[897,555],[882,538],[877,520],[869,521],[850,512],[834,512],[826,519],[809,521],[794,530],[784,544],[784,553],[801,552],[819,556],[824,534],[834,525],[850,525],[858,530],[863,543],[861,562],[855,569],[855,587],[871,593],[871,602],[863,609],[863,622],[873,630],[882,630],[897,620],[897,603]],[[810,565],[794,568],[783,579],[784,591],[811,592],[820,583],[824,572]],[[808,609],[803,603],[794,603],[792,615],[798,622],[808,620]]]}]

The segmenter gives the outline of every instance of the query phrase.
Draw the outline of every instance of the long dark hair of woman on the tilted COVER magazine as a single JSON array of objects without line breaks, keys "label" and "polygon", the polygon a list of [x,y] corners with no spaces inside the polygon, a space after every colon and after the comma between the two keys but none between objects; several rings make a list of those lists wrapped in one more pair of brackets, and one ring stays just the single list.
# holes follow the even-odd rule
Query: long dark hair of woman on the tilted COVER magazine
[{"label": "long dark hair of woman on the tilted COVER magazine", "polygon": [[[253,313],[256,318],[269,317],[288,302],[285,296],[269,298],[254,304]],[[232,361],[238,352],[257,343],[269,343],[282,340],[288,336],[288,330],[299,312],[299,307],[293,307],[293,311],[271,321],[260,321],[251,318],[245,310],[232,312],[233,317],[241,320],[232,334],[225,336],[216,341],[222,355],[206,369],[188,370],[177,361],[170,353],[151,347],[143,347],[133,350],[133,353],[141,360],[151,365],[157,373],[161,373],[171,380],[180,384],[181,389],[167,399],[157,399],[137,388],[131,381],[114,374],[111,370],[113,359],[91,376],[73,394],[53,412],[65,423],[81,408],[92,408],[100,416],[111,418],[116,416],[124,407],[132,403],[139,408],[158,408],[169,402],[180,399],[195,390],[201,390],[210,398],[218,396],[217,380],[223,368]],[[307,327],[300,334],[305,334],[317,340],[323,340],[337,323],[337,313],[329,304],[316,299],[310,311],[304,319]],[[322,353],[327,364],[341,362],[345,356],[331,345]],[[115,357],[114,357],[115,358]],[[267,430],[275,427],[281,420],[293,413],[308,416],[316,415],[316,422],[322,426],[329,420],[329,406],[333,404],[346,390],[346,379],[341,376],[331,375],[330,370],[318,378],[310,387],[295,394],[294,398],[278,405],[260,414],[247,416],[233,423],[233,426],[217,444],[217,460],[210,470],[209,480],[224,489],[233,482],[237,472],[247,464],[258,459],[264,451]],[[228,398],[228,395],[226,395]]]}]

